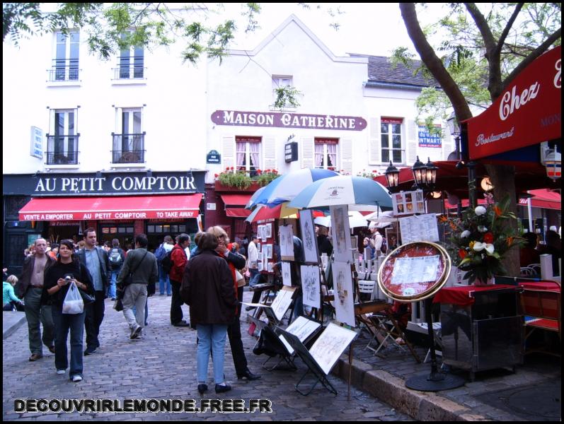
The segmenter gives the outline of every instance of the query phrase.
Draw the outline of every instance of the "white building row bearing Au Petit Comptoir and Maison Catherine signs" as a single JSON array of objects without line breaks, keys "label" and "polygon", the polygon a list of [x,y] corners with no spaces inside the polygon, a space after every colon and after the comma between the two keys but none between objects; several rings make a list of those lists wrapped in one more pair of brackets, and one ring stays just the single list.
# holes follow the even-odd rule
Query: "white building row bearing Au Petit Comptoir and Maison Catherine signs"
[{"label": "white building row bearing Au Petit Comptoir and Maison Catherine signs", "polygon": [[[229,52],[221,66],[183,65],[178,46],[131,49],[100,61],[88,54],[78,30],[21,40],[20,48],[6,41],[3,59],[9,264],[21,263],[33,237],[72,237],[86,226],[94,226],[100,240],[117,237],[122,244],[139,232],[151,245],[167,233],[194,232],[190,217],[204,192],[199,209],[206,225],[241,235],[242,220],[226,218],[220,196],[204,188],[204,178],[210,184],[226,167],[281,174],[326,167],[357,175],[383,171],[390,159],[411,166],[416,155],[441,160],[453,150],[447,139],[420,147],[415,98],[424,81],[391,69],[385,58],[335,57],[296,16],[254,49]],[[299,107],[272,107],[280,85],[301,91]],[[284,155],[289,141],[298,145],[292,162]],[[210,151],[221,154],[221,163],[207,164]],[[127,215],[134,198],[120,196],[133,194],[148,204],[156,194],[190,194],[195,205],[173,199],[166,214],[162,206],[160,214],[146,206]],[[69,197],[103,204],[116,195],[120,201],[108,208],[121,215],[70,213],[76,204]],[[47,197],[47,214],[38,213],[45,204],[28,204]],[[22,222],[24,206],[29,220]],[[97,208],[93,203],[90,212]]]}]

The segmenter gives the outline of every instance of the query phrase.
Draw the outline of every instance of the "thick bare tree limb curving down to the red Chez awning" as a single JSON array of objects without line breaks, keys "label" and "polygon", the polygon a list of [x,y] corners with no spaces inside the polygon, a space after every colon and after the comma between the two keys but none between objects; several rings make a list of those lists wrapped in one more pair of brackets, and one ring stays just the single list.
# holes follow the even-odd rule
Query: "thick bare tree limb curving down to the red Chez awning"
[{"label": "thick bare tree limb curving down to the red Chez awning", "polygon": [[437,57],[433,48],[427,41],[425,34],[421,30],[415,11],[415,4],[413,3],[400,3],[401,17],[405,23],[405,28],[408,30],[408,35],[418,51],[421,60],[427,66],[427,69],[432,73],[435,79],[439,82],[444,93],[449,98],[454,107],[456,118],[459,122],[472,117],[472,112],[468,107],[466,98],[461,93],[459,86],[451,77],[449,71],[444,68],[441,59]]}]

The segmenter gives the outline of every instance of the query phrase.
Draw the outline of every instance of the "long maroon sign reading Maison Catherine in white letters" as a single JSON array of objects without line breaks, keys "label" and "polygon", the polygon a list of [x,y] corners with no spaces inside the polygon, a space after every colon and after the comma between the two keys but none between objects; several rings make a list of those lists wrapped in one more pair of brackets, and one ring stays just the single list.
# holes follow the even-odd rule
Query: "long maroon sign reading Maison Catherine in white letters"
[{"label": "long maroon sign reading Maison Catherine in white letters", "polygon": [[238,110],[216,110],[212,122],[217,125],[277,126],[280,128],[340,129],[362,131],[367,127],[362,117],[337,117],[274,112],[241,112]]}]

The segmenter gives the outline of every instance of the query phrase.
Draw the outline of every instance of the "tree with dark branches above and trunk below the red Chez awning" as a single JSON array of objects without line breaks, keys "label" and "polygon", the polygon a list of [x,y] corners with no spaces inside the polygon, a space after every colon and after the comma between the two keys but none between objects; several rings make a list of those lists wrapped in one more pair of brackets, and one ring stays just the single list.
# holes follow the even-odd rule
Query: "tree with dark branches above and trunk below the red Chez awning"
[{"label": "tree with dark branches above and trunk below the red Chez awning", "polygon": [[[438,47],[446,53],[441,58],[420,27],[415,4],[400,4],[408,35],[427,71],[439,82],[449,99],[458,122],[472,117],[469,104],[476,94],[476,90],[468,90],[460,79],[456,81],[468,64],[474,64],[476,76],[479,76],[477,81],[484,83],[493,102],[531,61],[551,45],[561,42],[560,4],[490,5],[486,16],[473,3],[451,5],[451,16],[440,21],[442,29],[451,35],[445,37],[449,41]],[[518,18],[521,20],[516,27]],[[517,213],[514,168],[486,165],[486,169],[495,187],[495,199],[512,193],[510,211]],[[508,255],[505,268],[510,275],[519,274],[518,252]]]}]

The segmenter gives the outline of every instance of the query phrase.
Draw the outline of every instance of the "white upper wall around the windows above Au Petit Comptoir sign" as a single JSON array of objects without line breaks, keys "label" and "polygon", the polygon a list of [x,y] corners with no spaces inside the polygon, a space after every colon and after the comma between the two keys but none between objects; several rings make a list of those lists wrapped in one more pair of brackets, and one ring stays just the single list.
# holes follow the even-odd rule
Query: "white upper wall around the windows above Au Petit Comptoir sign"
[{"label": "white upper wall around the windows above Au Petit Comptoir sign", "polygon": [[[112,164],[112,136],[116,107],[143,107],[146,164],[131,169],[186,170],[205,165],[206,64],[182,64],[180,48],[145,49],[146,79],[142,84],[116,85],[112,68],[117,57],[100,61],[88,54],[81,38],[79,86],[47,83],[54,58],[54,35],[21,40],[16,48],[4,42],[3,60],[3,172],[28,173],[69,169],[72,172],[120,169]],[[59,86],[57,86],[59,84]],[[48,108],[78,110],[80,165],[45,165],[32,158],[30,126],[52,134]],[[45,137],[43,151],[47,150]],[[129,166],[127,166],[129,167]],[[127,169],[125,167],[125,169]]]}]

